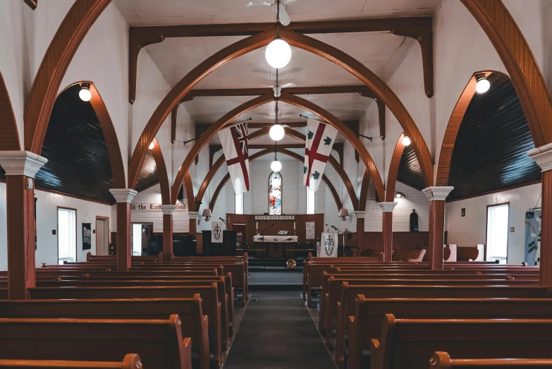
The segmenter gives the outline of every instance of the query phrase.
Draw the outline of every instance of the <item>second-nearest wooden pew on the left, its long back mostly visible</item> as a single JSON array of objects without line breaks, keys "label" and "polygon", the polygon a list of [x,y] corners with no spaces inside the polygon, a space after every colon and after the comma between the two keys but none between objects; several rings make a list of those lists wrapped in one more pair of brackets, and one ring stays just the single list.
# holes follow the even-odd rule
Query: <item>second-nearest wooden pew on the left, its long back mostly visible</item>
[{"label": "second-nearest wooden pew on the left, its long back mostly visible", "polygon": [[0,319],[0,357],[116,361],[134,351],[146,368],[190,369],[191,342],[180,318],[166,320]]}]

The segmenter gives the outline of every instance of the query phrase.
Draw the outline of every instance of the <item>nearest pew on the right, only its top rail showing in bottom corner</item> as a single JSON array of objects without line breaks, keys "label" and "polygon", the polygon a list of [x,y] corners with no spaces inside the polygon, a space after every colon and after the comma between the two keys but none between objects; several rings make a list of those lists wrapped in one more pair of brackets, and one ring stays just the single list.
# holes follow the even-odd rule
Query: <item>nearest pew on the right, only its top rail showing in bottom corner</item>
[{"label": "nearest pew on the right, only its top rail showing in bottom corner", "polygon": [[450,358],[443,351],[434,352],[429,369],[550,369],[552,358]]}]

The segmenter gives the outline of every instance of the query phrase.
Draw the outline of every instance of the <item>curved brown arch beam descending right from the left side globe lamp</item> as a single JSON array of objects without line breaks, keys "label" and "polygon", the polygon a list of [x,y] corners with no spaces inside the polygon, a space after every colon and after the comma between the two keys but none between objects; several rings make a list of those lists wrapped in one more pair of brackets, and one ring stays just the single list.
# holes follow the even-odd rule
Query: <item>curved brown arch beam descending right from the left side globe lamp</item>
[{"label": "curved brown arch beam descending right from the left side globe lamp", "polygon": [[111,175],[113,176],[114,188],[126,188],[125,166],[123,164],[123,156],[121,155],[121,147],[117,139],[117,133],[109,112],[102,96],[99,95],[94,83],[90,83],[90,93],[92,98],[90,104],[94,113],[98,117],[99,125],[102,126],[104,139],[106,140],[107,152],[109,153],[109,163],[111,164]]}]

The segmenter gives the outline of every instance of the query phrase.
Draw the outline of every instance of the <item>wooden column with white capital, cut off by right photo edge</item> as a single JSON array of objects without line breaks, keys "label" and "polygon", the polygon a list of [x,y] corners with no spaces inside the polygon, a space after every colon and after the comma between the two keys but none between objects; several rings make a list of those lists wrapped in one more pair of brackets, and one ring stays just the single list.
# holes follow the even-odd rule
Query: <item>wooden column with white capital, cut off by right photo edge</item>
[{"label": "wooden column with white capital, cut off by right photo edge", "polygon": [[530,150],[542,169],[541,286],[552,286],[552,143]]}]

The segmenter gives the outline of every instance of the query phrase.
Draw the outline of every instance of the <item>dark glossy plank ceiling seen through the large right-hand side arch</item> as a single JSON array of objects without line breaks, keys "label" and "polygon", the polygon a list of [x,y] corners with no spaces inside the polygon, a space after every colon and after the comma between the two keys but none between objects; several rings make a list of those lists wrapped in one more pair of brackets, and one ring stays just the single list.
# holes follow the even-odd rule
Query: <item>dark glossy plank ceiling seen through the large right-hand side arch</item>
[{"label": "dark glossy plank ceiling seen through the large right-hand side arch", "polygon": [[510,78],[493,73],[491,89],[475,94],[458,130],[447,200],[539,181],[541,170],[527,151],[534,143]]}]

